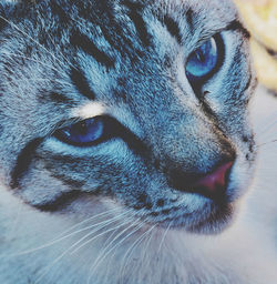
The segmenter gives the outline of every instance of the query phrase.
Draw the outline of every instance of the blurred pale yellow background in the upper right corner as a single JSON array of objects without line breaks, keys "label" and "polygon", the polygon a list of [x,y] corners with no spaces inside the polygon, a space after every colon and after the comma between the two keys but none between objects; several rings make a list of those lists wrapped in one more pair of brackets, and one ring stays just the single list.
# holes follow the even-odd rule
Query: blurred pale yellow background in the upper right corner
[{"label": "blurred pale yellow background in the upper right corner", "polygon": [[258,80],[277,95],[277,0],[234,0],[252,33]]}]

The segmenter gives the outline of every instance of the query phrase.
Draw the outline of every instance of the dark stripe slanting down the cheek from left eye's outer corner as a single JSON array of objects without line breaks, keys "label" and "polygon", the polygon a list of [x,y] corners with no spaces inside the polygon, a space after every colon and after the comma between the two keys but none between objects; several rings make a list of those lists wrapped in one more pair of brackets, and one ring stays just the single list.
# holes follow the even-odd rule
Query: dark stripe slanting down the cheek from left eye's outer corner
[{"label": "dark stripe slanting down the cheek from left eye's outer corner", "polygon": [[16,165],[11,172],[11,189],[19,186],[20,180],[23,178],[24,173],[29,169],[30,163],[32,162],[33,153],[42,141],[42,139],[34,139],[20,151]]}]

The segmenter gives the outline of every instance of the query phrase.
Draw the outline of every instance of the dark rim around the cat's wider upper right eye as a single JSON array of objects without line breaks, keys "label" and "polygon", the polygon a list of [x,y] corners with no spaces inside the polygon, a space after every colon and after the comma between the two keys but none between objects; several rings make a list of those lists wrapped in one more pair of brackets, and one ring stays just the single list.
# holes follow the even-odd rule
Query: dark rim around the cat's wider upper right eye
[{"label": "dark rim around the cat's wider upper right eye", "polygon": [[[187,80],[189,81],[189,83],[192,84],[193,89],[199,89],[205,82],[207,82],[212,77],[215,75],[215,73],[218,72],[218,70],[220,69],[220,67],[223,65],[224,61],[225,61],[225,45],[224,45],[224,41],[223,38],[219,33],[215,34],[212,37],[215,40],[216,43],[216,48],[217,48],[217,61],[214,65],[214,68],[205,75],[203,77],[194,77],[193,74],[191,74],[187,70],[186,70],[186,77]],[[211,39],[209,39],[211,40]],[[203,43],[204,44],[204,43]],[[199,47],[201,48],[201,47]],[[187,58],[187,61],[185,63],[185,69],[187,65],[187,62],[189,60],[189,58],[194,54],[194,52],[196,52],[198,49],[194,50]]]}]

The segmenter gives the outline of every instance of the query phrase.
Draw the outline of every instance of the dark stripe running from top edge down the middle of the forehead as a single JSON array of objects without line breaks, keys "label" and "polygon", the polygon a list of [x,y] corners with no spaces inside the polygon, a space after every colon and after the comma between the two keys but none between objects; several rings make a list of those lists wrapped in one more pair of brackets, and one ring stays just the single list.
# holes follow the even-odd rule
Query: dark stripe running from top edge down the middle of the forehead
[{"label": "dark stripe running from top edge down the middle of the forehead", "polygon": [[123,1],[123,4],[127,7],[127,16],[135,26],[136,32],[142,41],[142,43],[147,47],[151,43],[151,34],[147,31],[146,24],[142,17],[142,8],[137,3],[132,3],[127,0]]}]

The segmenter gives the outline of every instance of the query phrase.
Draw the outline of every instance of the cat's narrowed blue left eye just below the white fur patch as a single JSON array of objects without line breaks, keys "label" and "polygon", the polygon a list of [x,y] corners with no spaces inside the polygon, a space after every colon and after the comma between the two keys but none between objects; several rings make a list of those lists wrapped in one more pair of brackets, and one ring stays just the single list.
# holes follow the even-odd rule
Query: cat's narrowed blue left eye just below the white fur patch
[{"label": "cat's narrowed blue left eye just below the white fur patch", "polygon": [[58,130],[54,136],[68,144],[88,146],[104,139],[104,121],[99,118],[83,120]]}]

